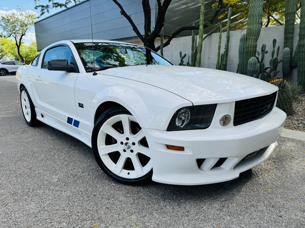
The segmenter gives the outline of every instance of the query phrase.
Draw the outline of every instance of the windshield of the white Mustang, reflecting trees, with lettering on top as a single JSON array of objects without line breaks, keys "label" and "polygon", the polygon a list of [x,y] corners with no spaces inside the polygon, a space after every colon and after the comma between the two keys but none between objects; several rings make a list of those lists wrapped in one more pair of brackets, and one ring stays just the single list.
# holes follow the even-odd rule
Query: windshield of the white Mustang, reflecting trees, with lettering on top
[{"label": "windshield of the white Mustang, reflecting trees, with lettering on top", "polygon": [[[74,43],[87,72],[135,65],[171,65],[149,48],[124,43]],[[93,62],[94,50],[94,62]]]}]

